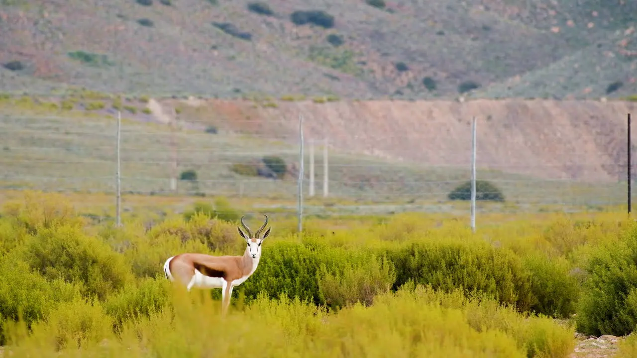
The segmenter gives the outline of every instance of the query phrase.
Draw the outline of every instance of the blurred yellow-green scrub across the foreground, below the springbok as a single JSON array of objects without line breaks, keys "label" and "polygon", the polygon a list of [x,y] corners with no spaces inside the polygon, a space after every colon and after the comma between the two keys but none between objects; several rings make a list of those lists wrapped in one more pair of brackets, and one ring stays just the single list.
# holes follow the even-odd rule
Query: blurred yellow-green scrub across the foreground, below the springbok
[{"label": "blurred yellow-green scrub across the foreground, below the springbok", "polygon": [[[299,299],[260,295],[225,318],[208,295],[168,292],[167,306],[127,322],[117,336],[104,332],[110,319],[101,314],[99,305],[64,304],[30,337],[13,341],[11,350],[18,356],[38,357],[53,355],[57,349],[65,356],[81,352],[83,357],[199,357],[211,352],[238,357],[249,347],[269,357],[566,358],[574,345],[569,327],[521,315],[483,297],[466,297],[459,290],[444,294],[412,285],[395,294],[380,294],[371,306],[355,304],[338,313]],[[70,319],[71,307],[87,317]],[[82,321],[85,324],[78,324]],[[106,342],[97,344],[98,336]]]}]

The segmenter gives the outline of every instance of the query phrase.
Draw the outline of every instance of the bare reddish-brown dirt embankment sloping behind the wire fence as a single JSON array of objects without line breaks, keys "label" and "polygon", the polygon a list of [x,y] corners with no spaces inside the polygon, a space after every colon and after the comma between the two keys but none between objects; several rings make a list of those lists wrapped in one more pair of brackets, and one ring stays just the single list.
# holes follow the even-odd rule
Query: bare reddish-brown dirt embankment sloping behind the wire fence
[{"label": "bare reddish-brown dirt embankment sloping behind the wire fence", "polygon": [[626,176],[626,118],[637,107],[622,101],[550,100],[281,101],[274,107],[215,99],[197,105],[182,118],[297,142],[303,115],[306,140],[327,138],[329,147],[340,151],[465,168],[471,158],[471,118],[476,117],[480,169],[610,181]]}]

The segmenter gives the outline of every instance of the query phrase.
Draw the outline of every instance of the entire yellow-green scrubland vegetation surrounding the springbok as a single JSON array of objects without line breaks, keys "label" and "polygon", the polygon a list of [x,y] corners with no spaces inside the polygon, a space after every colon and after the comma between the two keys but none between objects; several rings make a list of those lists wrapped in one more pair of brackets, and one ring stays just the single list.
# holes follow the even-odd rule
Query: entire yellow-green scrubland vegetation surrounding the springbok
[{"label": "entire yellow-green scrubland vegetation surrounding the springbok", "polygon": [[241,254],[241,213],[129,213],[123,227],[85,214],[59,194],[4,203],[4,356],[568,357],[575,331],[637,324],[625,214],[512,217],[476,234],[420,213],[309,218],[301,236],[272,220],[225,319],[219,290],[187,294],[161,268],[179,252]]}]

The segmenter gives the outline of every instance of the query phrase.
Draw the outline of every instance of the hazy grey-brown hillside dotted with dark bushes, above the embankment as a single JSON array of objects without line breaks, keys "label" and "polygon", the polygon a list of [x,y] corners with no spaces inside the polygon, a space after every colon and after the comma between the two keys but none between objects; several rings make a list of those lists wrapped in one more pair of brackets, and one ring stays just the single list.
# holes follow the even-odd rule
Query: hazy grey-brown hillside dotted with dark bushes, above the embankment
[{"label": "hazy grey-brown hillside dotted with dark bushes, above the embankment", "polygon": [[2,0],[0,90],[627,96],[637,92],[637,2],[612,3]]}]

